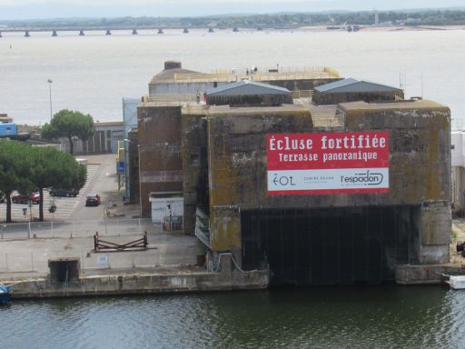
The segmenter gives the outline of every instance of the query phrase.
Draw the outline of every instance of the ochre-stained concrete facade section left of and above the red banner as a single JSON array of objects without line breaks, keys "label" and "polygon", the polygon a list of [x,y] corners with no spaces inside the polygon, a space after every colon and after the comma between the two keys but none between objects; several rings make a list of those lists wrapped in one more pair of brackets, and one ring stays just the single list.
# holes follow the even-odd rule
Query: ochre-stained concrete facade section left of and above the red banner
[{"label": "ochre-stained concrete facade section left of and above the red banner", "polygon": [[[254,108],[211,115],[209,122],[210,230],[213,250],[239,254],[239,208],[266,205],[266,135],[280,131],[312,130],[306,110],[276,112]],[[240,260],[240,258],[238,259]]]}]

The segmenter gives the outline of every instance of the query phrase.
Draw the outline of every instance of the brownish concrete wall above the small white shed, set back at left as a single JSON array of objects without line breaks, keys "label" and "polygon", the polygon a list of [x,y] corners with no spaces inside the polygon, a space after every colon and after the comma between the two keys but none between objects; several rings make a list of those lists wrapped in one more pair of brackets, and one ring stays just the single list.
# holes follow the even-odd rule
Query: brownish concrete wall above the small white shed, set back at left
[{"label": "brownish concrete wall above the small white shed, set back at left", "polygon": [[137,108],[142,214],[150,216],[151,192],[182,192],[181,107]]}]

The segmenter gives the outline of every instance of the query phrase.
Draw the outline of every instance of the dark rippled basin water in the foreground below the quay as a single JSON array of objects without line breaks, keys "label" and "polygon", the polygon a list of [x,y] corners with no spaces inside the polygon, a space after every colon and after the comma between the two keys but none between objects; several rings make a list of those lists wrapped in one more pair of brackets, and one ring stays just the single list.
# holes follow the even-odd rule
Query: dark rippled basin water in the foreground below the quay
[{"label": "dark rippled basin water in the foreground below the quay", "polygon": [[463,348],[465,292],[276,289],[19,302],[4,348]]}]

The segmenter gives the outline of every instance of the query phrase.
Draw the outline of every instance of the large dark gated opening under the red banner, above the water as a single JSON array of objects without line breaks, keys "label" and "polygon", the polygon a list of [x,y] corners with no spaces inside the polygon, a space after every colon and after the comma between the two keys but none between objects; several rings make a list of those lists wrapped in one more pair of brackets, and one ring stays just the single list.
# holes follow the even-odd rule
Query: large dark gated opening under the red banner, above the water
[{"label": "large dark gated opening under the red banner, above the water", "polygon": [[242,267],[272,284],[379,284],[414,263],[420,206],[241,213]]}]

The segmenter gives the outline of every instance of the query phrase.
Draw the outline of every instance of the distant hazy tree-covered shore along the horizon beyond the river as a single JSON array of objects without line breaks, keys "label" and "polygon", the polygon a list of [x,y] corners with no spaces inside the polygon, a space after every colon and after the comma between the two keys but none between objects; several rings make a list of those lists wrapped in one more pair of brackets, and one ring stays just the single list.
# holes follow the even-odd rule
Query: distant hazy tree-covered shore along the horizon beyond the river
[{"label": "distant hazy tree-covered shore along the horizon beyond the river", "polygon": [[[463,10],[419,10],[419,11],[380,11],[380,23],[394,25],[465,25]],[[56,20],[15,20],[3,21],[6,28],[108,28],[119,27],[246,27],[246,28],[285,28],[311,25],[373,25],[374,13],[334,12],[334,13],[292,13],[269,15],[211,15],[204,17],[118,17],[118,18],[74,18]]]}]

